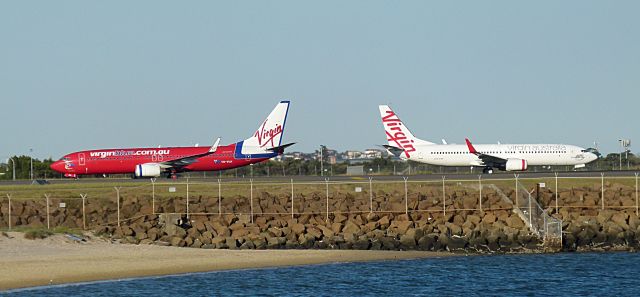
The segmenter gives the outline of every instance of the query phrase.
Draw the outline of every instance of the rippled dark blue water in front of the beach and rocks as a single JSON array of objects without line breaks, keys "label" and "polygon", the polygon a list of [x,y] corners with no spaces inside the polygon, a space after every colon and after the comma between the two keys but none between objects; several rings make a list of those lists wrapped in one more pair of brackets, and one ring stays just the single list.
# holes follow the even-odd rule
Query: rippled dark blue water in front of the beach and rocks
[{"label": "rippled dark blue water in front of the beach and rocks", "polygon": [[6,294],[638,296],[640,253],[459,256],[309,265],[60,285]]}]

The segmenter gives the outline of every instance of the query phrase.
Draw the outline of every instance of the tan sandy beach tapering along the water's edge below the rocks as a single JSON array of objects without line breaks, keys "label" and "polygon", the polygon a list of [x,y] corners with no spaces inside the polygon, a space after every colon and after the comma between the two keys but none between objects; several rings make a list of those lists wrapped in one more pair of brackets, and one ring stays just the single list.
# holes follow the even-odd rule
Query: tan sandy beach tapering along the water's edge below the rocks
[{"label": "tan sandy beach tapering along the water's edge below the rocks", "polygon": [[449,253],[356,250],[214,250],[77,242],[56,234],[29,240],[0,235],[0,290],[188,272],[440,257]]}]

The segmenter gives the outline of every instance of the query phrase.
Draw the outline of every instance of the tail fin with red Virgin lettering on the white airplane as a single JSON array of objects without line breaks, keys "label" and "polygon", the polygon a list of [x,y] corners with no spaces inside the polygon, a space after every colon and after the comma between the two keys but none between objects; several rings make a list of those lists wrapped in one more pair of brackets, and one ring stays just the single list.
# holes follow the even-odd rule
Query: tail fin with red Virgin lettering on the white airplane
[{"label": "tail fin with red Virgin lettering on the white airplane", "polygon": [[433,142],[425,141],[416,138],[411,134],[409,128],[405,126],[400,118],[391,110],[387,105],[380,105],[380,117],[382,117],[382,126],[387,134],[387,141],[390,146],[401,148],[404,150],[404,155],[409,158],[411,152],[415,152],[414,145],[416,144],[434,144]]}]

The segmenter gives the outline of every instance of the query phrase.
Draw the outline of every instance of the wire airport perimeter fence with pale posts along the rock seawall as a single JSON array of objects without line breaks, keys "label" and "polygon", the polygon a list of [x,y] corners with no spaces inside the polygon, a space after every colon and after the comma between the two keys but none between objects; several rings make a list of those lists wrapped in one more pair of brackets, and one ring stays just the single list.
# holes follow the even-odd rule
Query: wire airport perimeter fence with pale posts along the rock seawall
[{"label": "wire airport perimeter fence with pale posts along the rock seawall", "polygon": [[[515,183],[514,183],[515,180]],[[547,203],[532,190],[544,183]],[[547,186],[549,185],[549,186]],[[517,190],[516,190],[517,189]],[[553,190],[552,190],[553,189]],[[599,192],[595,197],[594,192]],[[517,195],[515,194],[517,193]],[[607,195],[609,193],[609,195]],[[537,193],[538,194],[538,193]],[[127,185],[62,184],[0,188],[0,228],[59,226],[92,229],[119,226],[147,215],[191,216],[428,214],[520,210],[523,220],[540,235],[561,229],[552,215],[562,209],[635,210],[638,174],[633,177],[536,178],[476,180],[375,180],[321,182],[193,182],[186,180]],[[635,195],[635,196],[634,196]],[[505,202],[504,196],[511,199]],[[578,199],[577,196],[580,196]],[[586,198],[585,198],[586,197]],[[555,198],[555,199],[554,199]],[[559,198],[563,204],[559,204]],[[596,199],[597,198],[597,199]],[[633,201],[635,198],[635,201]],[[596,204],[593,201],[599,200]],[[540,205],[542,204],[542,205]],[[527,218],[528,216],[528,218]],[[542,220],[542,223],[540,223]],[[561,230],[560,230],[561,231]]]}]

